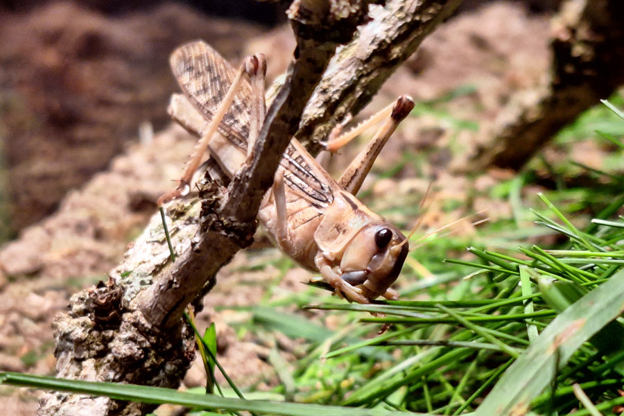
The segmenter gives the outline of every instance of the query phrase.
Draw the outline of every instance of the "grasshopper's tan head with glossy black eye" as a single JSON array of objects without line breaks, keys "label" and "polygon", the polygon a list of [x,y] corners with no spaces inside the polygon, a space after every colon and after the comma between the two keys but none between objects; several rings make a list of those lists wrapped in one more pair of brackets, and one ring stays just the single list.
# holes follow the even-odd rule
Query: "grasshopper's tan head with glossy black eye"
[{"label": "grasshopper's tan head with glossy black eye", "polygon": [[388,223],[363,227],[340,259],[341,279],[362,291],[367,300],[385,295],[409,252],[405,236]]}]

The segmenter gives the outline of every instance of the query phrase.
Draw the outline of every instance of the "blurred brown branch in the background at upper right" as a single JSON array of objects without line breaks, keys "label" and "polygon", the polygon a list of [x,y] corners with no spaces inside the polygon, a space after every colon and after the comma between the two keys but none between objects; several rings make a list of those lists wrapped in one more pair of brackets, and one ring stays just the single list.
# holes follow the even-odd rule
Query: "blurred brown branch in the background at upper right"
[{"label": "blurred brown branch in the background at upper right", "polygon": [[482,166],[518,169],[580,112],[624,84],[624,3],[573,0],[555,21],[548,85],[512,100],[472,158]]}]

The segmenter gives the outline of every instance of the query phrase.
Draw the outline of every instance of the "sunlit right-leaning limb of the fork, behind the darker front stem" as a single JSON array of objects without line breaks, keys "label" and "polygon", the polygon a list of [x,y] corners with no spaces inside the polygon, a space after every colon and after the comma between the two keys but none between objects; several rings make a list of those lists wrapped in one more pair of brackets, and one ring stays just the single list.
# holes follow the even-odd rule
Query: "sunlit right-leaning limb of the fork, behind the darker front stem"
[{"label": "sunlit right-leaning limb of the fork, behind the darker front stem", "polygon": [[461,0],[388,0],[336,53],[304,112],[297,138],[311,153],[347,114],[357,114],[384,81],[449,17]]}]

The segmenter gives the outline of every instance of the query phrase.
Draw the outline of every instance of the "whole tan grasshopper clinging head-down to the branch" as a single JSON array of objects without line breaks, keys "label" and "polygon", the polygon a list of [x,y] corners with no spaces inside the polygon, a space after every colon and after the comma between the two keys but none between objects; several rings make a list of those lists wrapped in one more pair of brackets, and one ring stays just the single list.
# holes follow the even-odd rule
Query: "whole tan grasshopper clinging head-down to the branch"
[{"label": "whole tan grasshopper clinging head-down to the branch", "polygon": [[[263,55],[248,58],[235,71],[208,44],[196,41],[173,51],[170,63],[184,96],[172,96],[169,112],[200,140],[180,185],[159,198],[159,205],[189,193],[191,178],[206,150],[211,157],[211,175],[232,177],[250,157],[266,113]],[[408,241],[354,195],[381,148],[413,106],[409,97],[401,96],[394,105],[345,134],[341,134],[340,125],[334,128],[326,145],[332,151],[385,119],[370,144],[338,180],[293,137],[258,212],[259,220],[283,252],[305,268],[320,272],[336,294],[350,301],[369,303],[379,295],[398,298],[390,285],[403,267]],[[203,119],[200,128],[193,128],[189,119],[197,119],[198,112]]]}]

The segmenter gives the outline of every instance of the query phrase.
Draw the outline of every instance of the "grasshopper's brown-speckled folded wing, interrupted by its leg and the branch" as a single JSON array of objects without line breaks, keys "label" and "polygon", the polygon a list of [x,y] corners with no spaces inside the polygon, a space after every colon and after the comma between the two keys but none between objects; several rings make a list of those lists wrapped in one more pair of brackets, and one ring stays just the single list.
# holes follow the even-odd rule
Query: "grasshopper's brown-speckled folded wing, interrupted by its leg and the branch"
[{"label": "grasshopper's brown-speckled folded wing, interrupted by its leg and the branch", "polygon": [[[169,58],[173,75],[184,96],[207,120],[211,120],[227,89],[236,77],[236,70],[209,44],[194,41],[184,44]],[[247,152],[250,125],[251,85],[242,80],[239,92],[219,123],[218,131],[234,146]],[[333,200],[325,172],[301,145],[288,144],[281,160],[287,187],[318,208]],[[331,180],[331,177],[329,177]]]}]

